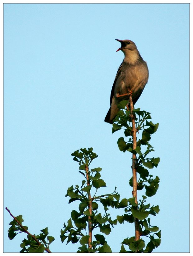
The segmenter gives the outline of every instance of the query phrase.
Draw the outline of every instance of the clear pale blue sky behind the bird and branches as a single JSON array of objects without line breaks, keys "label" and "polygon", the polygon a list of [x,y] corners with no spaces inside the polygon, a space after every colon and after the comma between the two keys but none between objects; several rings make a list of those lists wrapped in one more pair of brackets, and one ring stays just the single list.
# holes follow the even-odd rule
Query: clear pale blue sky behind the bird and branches
[{"label": "clear pale blue sky behind the bird and branches", "polygon": [[[23,215],[32,234],[48,227],[50,250],[76,252],[60,229],[77,204],[65,198],[81,184],[71,153],[93,147],[106,192],[131,197],[129,153],[104,122],[114,78],[123,60],[120,43],[130,39],[149,68],[149,81],[135,108],[160,123],[150,144],[160,178],[152,218],[162,230],[154,252],[189,252],[189,4],[4,4],[4,208]],[[124,214],[110,210],[112,218]],[[4,211],[4,252],[19,252],[25,235],[10,241]],[[134,235],[117,224],[113,252]]]}]

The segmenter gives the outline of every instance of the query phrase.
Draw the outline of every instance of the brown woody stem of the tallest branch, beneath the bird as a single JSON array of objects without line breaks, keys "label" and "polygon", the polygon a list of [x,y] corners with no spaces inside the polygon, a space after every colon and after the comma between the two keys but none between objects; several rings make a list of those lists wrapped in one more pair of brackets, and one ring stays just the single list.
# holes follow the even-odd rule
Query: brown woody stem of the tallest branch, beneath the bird
[{"label": "brown woody stem of the tallest branch, beneath the bird", "polygon": [[[135,115],[133,113],[134,105],[132,101],[132,96],[129,96],[129,104],[130,104],[130,117],[132,122],[132,137],[133,137],[133,150],[137,147],[137,136],[136,136],[136,127],[135,127]],[[133,172],[133,197],[135,197],[135,203],[137,202],[137,171],[136,171],[136,155],[133,154],[133,160],[132,160],[132,172]],[[140,233],[139,233],[139,219],[134,218],[135,223],[135,241],[140,239]]]}]

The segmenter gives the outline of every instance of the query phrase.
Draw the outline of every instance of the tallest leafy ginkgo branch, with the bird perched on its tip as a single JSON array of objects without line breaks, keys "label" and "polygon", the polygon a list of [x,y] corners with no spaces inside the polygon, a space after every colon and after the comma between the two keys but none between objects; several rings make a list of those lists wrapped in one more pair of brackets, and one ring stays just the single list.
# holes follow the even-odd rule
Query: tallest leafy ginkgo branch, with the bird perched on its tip
[{"label": "tallest leafy ginkgo branch, with the bird perched on its tip", "polygon": [[[159,206],[150,206],[145,204],[146,199],[156,194],[158,190],[159,177],[153,178],[146,169],[153,169],[157,167],[160,161],[159,157],[147,157],[148,154],[154,151],[153,146],[149,144],[151,135],[158,129],[159,124],[153,124],[151,121],[150,113],[146,111],[134,110],[132,96],[129,96],[130,111],[128,109],[128,101],[121,101],[118,107],[121,109],[114,119],[112,133],[118,130],[124,130],[125,137],[129,137],[125,141],[123,137],[117,141],[118,147],[122,152],[130,152],[132,154],[132,177],[129,180],[129,185],[133,187],[133,197],[129,199],[122,199],[118,208],[125,208],[125,214],[117,216],[119,223],[125,221],[134,223],[135,236],[126,238],[122,242],[120,252],[152,252],[153,249],[158,247],[161,243],[161,231],[159,228],[150,224],[149,215],[159,213]],[[136,134],[140,133],[141,139],[137,140]],[[147,146],[144,149],[144,146]],[[144,153],[142,151],[144,150]],[[137,173],[139,178],[137,179]],[[137,199],[137,191],[145,189],[145,195],[142,199]],[[154,238],[154,234],[158,238]],[[149,243],[145,248],[145,242],[140,239],[141,236],[148,237]],[[129,246],[130,251],[125,249],[124,245]],[[145,249],[144,249],[145,248]]]}]

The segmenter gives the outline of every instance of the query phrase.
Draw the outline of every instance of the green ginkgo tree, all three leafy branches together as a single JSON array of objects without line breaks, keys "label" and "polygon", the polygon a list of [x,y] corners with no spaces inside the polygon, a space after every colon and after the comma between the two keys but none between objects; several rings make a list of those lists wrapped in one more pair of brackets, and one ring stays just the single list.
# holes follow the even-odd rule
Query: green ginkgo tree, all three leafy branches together
[{"label": "green ginkgo tree, all three leafy branches together", "polygon": [[[132,154],[132,177],[129,185],[133,187],[133,197],[120,200],[120,195],[115,190],[111,194],[98,195],[101,187],[106,187],[106,182],[101,179],[101,168],[89,169],[91,162],[98,156],[93,152],[93,148],[83,148],[72,153],[73,160],[78,162],[79,173],[84,176],[82,185],[72,185],[68,188],[66,197],[69,197],[69,204],[79,201],[78,209],[73,209],[71,218],[64,229],[61,229],[60,238],[62,243],[67,239],[67,244],[80,243],[78,252],[112,252],[106,242],[105,235],[111,233],[111,228],[117,224],[124,224],[125,221],[134,223],[135,235],[125,238],[121,242],[120,252],[152,252],[161,243],[161,231],[157,226],[150,224],[150,216],[159,213],[159,206],[151,206],[146,201],[148,197],[156,194],[159,187],[159,177],[149,174],[148,169],[158,166],[160,159],[150,157],[154,152],[153,146],[149,144],[151,135],[158,129],[159,124],[153,124],[150,113],[134,109],[132,97],[128,101],[121,101],[118,107],[120,111],[114,119],[112,133],[124,130],[124,135],[128,138],[120,137],[117,141],[118,147],[122,152]],[[138,136],[140,139],[138,139]],[[144,190],[145,195],[139,199],[138,191]],[[98,212],[102,206],[104,212]],[[117,219],[112,220],[108,212],[111,207],[123,208],[125,213],[118,215]],[[6,207],[7,209],[7,207]],[[28,227],[23,226],[22,215],[14,217],[7,209],[13,220],[8,229],[9,239],[13,239],[18,233],[26,233],[20,245],[20,252],[51,252],[49,245],[54,241],[54,237],[48,236],[48,228],[42,229],[39,235],[32,235],[28,232]],[[93,231],[102,234],[94,234]],[[154,237],[156,235],[156,237]],[[146,239],[149,242],[146,243]]]}]

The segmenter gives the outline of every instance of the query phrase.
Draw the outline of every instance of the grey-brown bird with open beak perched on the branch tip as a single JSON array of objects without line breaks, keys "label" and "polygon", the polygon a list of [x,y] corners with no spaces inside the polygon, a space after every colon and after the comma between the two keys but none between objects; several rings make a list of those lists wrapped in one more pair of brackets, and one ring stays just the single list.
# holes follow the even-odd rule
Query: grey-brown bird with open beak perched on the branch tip
[{"label": "grey-brown bird with open beak perched on the branch tip", "polygon": [[116,51],[122,51],[125,55],[121,63],[111,90],[110,109],[105,117],[105,122],[112,124],[113,119],[120,110],[117,105],[120,101],[128,100],[128,91],[132,92],[133,104],[137,102],[145,85],[149,72],[146,62],[141,57],[136,45],[131,40],[119,40],[121,47]]}]

